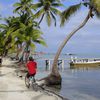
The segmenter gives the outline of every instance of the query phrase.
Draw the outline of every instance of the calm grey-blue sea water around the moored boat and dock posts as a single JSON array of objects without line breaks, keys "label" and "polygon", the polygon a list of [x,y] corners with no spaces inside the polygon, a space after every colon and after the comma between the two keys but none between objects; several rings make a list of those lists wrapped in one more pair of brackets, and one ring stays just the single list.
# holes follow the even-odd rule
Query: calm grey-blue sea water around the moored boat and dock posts
[{"label": "calm grey-blue sea water around the moored boat and dock posts", "polygon": [[[38,63],[38,73],[36,78],[43,78],[47,76],[51,70],[46,70],[45,59],[54,59],[55,54],[44,54],[35,57]],[[75,56],[75,55],[71,55]],[[64,69],[59,68],[62,76],[62,85],[58,93],[63,98],[69,100],[100,100],[100,69],[99,68],[81,68],[70,69],[70,55],[62,54],[60,58],[66,59],[64,62]],[[99,56],[79,56],[80,58],[99,58]],[[45,58],[45,59],[44,59]],[[52,67],[51,60],[50,65]],[[61,66],[59,66],[61,67]]]}]

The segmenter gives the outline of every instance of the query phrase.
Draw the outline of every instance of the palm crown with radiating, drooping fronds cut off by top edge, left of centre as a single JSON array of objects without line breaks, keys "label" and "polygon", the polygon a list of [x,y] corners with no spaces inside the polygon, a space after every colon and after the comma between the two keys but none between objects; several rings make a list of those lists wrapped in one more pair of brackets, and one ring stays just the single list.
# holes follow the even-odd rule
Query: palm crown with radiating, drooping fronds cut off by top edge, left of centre
[{"label": "palm crown with radiating, drooping fronds cut off by top edge, left of centre", "polygon": [[45,16],[48,26],[51,25],[53,19],[56,26],[56,16],[61,14],[57,8],[61,6],[63,5],[60,0],[38,0],[38,3],[33,4],[33,8],[38,9],[35,18],[41,17],[39,21],[40,24]]}]

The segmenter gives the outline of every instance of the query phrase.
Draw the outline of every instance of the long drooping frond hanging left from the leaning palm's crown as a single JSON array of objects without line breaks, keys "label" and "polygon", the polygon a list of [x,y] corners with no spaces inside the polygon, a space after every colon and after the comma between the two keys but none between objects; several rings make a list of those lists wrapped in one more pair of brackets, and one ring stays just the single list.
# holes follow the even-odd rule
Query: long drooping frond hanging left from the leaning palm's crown
[{"label": "long drooping frond hanging left from the leaning palm's crown", "polygon": [[81,4],[76,4],[70,6],[68,9],[62,12],[61,14],[61,26],[65,24],[65,22],[70,18],[71,15],[75,14],[81,7]]}]

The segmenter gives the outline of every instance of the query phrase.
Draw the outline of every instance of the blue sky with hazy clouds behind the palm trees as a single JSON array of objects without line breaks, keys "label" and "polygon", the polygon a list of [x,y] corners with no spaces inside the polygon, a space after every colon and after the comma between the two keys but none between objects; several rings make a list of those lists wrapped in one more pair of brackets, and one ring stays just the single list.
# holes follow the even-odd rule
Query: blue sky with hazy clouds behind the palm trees
[{"label": "blue sky with hazy clouds behind the palm trees", "polygon": [[[0,14],[2,17],[13,15],[13,4],[19,0],[0,0]],[[77,4],[81,0],[63,0],[67,6]],[[60,44],[65,37],[78,25],[82,23],[88,13],[88,9],[82,7],[64,27],[60,27],[60,19],[57,18],[57,26],[53,24],[48,27],[45,19],[40,27],[43,31],[43,38],[47,43],[47,47],[37,45],[36,51],[56,53]],[[74,53],[77,55],[89,55],[100,57],[100,19],[95,16],[79,30],[66,44],[62,53]]]}]

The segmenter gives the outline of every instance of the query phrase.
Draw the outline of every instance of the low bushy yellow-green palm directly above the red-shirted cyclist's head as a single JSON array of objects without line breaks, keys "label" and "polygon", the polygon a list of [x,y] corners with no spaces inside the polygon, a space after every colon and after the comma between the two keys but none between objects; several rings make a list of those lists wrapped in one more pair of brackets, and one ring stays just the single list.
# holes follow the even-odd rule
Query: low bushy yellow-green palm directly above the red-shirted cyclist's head
[{"label": "low bushy yellow-green palm directly above the red-shirted cyclist's head", "polygon": [[[42,44],[43,46],[46,46],[46,43],[44,42],[43,38],[41,37],[43,33],[39,30],[34,28],[33,24],[27,26],[24,30],[24,38],[25,38],[25,52],[26,52],[26,61],[29,56],[29,48],[33,47],[35,48],[34,43]],[[23,53],[24,54],[24,53]]]}]

